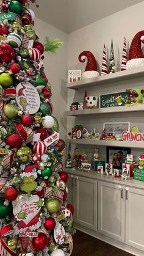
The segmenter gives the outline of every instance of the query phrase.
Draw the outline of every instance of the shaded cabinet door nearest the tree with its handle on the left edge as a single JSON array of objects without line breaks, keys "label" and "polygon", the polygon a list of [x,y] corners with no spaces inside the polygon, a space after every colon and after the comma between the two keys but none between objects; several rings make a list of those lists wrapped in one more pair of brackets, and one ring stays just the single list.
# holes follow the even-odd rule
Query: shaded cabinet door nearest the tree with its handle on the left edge
[{"label": "shaded cabinet door nearest the tree with its handle on the left edge", "polygon": [[73,189],[74,222],[97,231],[98,181],[77,176]]}]

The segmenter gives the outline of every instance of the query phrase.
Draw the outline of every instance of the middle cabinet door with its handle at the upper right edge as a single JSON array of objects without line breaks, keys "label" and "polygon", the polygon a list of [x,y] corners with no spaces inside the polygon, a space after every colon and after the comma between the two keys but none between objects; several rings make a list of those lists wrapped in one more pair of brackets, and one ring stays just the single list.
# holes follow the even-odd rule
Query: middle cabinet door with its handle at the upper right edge
[{"label": "middle cabinet door with its handle at the upper right edge", "polygon": [[121,186],[98,181],[98,231],[124,242],[124,189]]}]

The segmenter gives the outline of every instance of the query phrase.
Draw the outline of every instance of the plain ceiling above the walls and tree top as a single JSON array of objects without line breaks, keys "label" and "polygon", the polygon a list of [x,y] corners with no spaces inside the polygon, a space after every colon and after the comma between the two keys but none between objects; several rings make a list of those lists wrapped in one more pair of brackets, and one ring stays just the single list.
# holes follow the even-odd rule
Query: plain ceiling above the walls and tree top
[{"label": "plain ceiling above the walls and tree top", "polygon": [[37,18],[71,33],[143,0],[37,0]]}]

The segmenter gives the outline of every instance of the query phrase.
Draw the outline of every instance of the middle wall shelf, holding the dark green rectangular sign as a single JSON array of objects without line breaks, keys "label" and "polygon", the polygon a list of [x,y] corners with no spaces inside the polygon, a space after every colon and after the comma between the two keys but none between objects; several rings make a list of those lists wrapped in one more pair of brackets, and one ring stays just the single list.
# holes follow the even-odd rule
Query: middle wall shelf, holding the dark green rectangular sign
[{"label": "middle wall shelf, holding the dark green rectangular sign", "polygon": [[77,115],[93,115],[93,114],[135,112],[135,111],[144,111],[144,104],[135,105],[135,106],[113,107],[113,108],[97,108],[97,109],[67,111],[67,115],[77,116]]}]

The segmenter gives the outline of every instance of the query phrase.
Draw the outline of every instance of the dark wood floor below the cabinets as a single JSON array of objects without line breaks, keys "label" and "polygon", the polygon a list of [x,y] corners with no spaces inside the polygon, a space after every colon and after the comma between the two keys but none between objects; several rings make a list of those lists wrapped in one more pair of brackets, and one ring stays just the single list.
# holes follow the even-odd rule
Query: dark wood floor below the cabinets
[{"label": "dark wood floor below the cabinets", "polygon": [[73,242],[74,248],[71,256],[134,256],[79,230],[76,230]]}]

